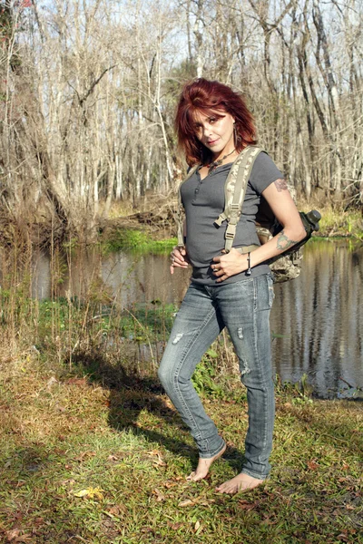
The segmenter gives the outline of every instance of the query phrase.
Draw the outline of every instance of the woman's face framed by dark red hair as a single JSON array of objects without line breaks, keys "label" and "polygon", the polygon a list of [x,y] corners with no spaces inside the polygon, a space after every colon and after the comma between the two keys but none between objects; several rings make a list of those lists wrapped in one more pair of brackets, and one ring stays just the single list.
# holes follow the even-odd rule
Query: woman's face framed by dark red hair
[{"label": "woman's face framed by dark red hair", "polygon": [[233,123],[230,113],[221,110],[194,115],[195,135],[212,152],[213,158],[234,150]]}]

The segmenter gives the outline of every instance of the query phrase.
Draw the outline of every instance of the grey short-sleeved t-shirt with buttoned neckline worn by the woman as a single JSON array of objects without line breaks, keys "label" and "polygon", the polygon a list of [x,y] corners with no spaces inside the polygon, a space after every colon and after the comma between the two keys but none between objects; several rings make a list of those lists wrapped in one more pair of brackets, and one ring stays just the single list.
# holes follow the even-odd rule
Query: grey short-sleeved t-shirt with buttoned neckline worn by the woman
[{"label": "grey short-sleeved t-shirt with buttoned neckline worn by the woman", "polygon": [[[231,164],[223,164],[209,176],[201,180],[200,173],[195,172],[188,181],[182,184],[182,204],[186,215],[186,248],[191,259],[191,281],[207,286],[221,286],[233,283],[246,277],[245,272],[231,276],[217,283],[212,273],[212,258],[221,255],[224,248],[227,221],[220,228],[214,221],[224,209],[224,184],[231,170]],[[242,206],[240,221],[237,225],[233,247],[260,245],[256,233],[255,218],[260,205],[260,194],[270,183],[283,178],[267,153],[260,153],[250,173],[246,196]],[[252,266],[253,266],[253,259]],[[268,265],[260,264],[252,267],[251,277],[270,272]]]}]

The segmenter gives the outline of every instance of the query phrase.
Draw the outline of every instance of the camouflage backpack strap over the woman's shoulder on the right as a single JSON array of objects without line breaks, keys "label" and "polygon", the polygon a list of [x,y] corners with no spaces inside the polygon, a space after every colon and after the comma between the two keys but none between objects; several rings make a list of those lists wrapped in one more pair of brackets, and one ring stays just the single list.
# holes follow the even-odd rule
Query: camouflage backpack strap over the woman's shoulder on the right
[{"label": "camouflage backpack strap over the woman's shoulder on the right", "polygon": [[236,236],[237,223],[240,219],[243,200],[246,194],[247,183],[250,179],[254,161],[262,150],[257,146],[248,146],[233,162],[230,173],[224,185],[224,209],[218,219],[214,221],[216,227],[221,227],[224,220],[228,221],[225,234],[224,249],[231,251]]}]

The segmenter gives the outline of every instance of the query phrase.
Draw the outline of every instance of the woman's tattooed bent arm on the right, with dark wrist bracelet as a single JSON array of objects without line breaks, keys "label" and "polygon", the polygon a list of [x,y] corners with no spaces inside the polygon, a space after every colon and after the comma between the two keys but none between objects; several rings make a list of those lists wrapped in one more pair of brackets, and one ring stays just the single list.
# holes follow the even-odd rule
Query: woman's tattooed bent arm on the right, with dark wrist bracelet
[{"label": "woman's tattooed bent arm on the right, with dark wrist bracelet", "polygon": [[[270,183],[262,192],[263,197],[270,204],[270,208],[282,225],[282,230],[266,244],[250,253],[250,267],[260,265],[272,257],[276,257],[287,249],[297,244],[306,237],[306,231],[299,216],[285,180],[276,180]],[[231,249],[230,253],[214,257],[215,265],[211,267],[219,282],[227,277],[240,274],[248,269],[247,255],[240,255],[237,249]]]}]

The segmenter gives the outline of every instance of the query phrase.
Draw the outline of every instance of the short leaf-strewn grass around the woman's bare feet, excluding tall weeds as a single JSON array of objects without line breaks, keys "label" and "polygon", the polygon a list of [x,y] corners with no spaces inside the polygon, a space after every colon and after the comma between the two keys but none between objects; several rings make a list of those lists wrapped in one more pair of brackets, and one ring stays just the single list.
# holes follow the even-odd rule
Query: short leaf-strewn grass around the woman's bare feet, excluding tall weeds
[{"label": "short leaf-strewn grass around the woman's bare feet, excluding tall weeds", "polygon": [[255,491],[215,492],[242,462],[246,401],[204,394],[228,450],[206,481],[154,374],[118,387],[32,350],[1,365],[3,542],[363,542],[359,403],[278,386],[273,471]]}]

